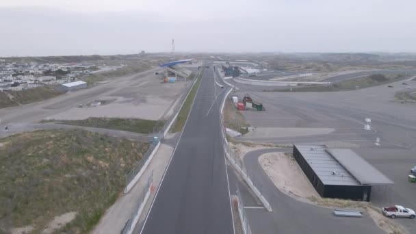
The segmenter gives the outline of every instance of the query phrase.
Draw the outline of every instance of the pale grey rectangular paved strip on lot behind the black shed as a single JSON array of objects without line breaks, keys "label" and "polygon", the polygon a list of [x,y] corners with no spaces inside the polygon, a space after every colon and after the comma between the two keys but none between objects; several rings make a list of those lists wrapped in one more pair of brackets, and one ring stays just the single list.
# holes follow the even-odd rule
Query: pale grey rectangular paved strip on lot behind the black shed
[{"label": "pale grey rectangular paved strip on lot behind the black shed", "polygon": [[244,136],[247,138],[274,138],[274,137],[296,137],[307,135],[322,135],[332,133],[330,128],[300,128],[300,127],[257,127]]}]

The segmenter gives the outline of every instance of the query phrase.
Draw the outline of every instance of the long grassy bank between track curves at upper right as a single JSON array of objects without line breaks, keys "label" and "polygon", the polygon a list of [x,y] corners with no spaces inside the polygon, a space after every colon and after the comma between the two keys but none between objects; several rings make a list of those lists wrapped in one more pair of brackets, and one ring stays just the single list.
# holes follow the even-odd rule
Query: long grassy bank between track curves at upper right
[{"label": "long grassy bank between track curves at upper right", "polygon": [[330,83],[327,86],[298,86],[296,88],[284,88],[273,90],[275,92],[336,92],[369,88],[372,86],[380,86],[387,83],[393,83],[405,79],[404,75],[381,75],[375,74],[359,79],[348,79],[337,83]]}]

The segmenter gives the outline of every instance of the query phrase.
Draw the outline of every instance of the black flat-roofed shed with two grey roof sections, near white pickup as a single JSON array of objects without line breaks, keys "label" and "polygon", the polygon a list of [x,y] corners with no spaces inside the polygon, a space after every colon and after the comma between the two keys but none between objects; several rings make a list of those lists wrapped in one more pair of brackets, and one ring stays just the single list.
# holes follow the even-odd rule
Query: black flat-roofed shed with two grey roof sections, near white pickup
[{"label": "black flat-roofed shed with two grey roof sections, near white pickup", "polygon": [[393,183],[350,149],[294,145],[293,155],[315,190],[324,198],[369,201],[372,185]]}]

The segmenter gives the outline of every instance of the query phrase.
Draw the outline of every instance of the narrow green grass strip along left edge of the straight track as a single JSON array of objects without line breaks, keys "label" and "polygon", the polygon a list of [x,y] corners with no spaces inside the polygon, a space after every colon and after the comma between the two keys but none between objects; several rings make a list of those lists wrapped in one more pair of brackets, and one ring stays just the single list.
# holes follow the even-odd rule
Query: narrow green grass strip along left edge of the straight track
[{"label": "narrow green grass strip along left edge of the straight track", "polygon": [[194,87],[192,87],[192,90],[190,91],[190,94],[185,99],[185,103],[183,103],[183,106],[181,110],[179,111],[177,120],[174,121],[174,124],[172,125],[172,128],[170,129],[170,132],[177,133],[179,131],[183,130],[183,127],[185,126],[185,122],[187,120],[187,116],[191,111],[192,103],[194,103],[194,99],[196,96],[196,91],[198,90],[198,87],[200,85],[200,82],[203,79],[204,75],[204,68],[201,71],[200,75],[198,76],[198,80],[196,81]]}]

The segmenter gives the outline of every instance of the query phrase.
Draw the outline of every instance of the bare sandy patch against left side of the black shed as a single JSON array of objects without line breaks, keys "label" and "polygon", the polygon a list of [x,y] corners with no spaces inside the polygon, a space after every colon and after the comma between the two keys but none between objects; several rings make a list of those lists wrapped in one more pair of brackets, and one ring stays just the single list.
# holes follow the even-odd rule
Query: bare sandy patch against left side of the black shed
[{"label": "bare sandy patch against left side of the black shed", "polygon": [[266,153],[259,157],[259,163],[282,192],[301,198],[320,197],[293,157],[285,153]]}]

